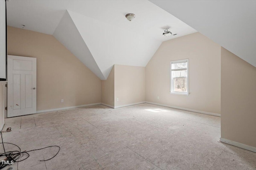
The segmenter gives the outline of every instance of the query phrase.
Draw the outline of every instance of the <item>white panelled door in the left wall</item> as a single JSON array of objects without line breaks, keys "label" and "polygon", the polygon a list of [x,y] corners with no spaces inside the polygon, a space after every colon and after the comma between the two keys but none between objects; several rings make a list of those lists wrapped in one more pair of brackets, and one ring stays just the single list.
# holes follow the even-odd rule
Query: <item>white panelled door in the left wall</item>
[{"label": "white panelled door in the left wall", "polygon": [[36,113],[36,58],[8,55],[7,117]]}]

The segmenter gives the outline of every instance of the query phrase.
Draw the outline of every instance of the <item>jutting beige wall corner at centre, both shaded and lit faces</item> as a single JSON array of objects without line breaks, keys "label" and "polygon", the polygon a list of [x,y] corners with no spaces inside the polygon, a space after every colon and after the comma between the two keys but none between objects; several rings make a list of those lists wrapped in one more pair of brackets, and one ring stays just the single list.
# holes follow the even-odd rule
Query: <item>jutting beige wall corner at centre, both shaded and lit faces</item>
[{"label": "jutting beige wall corner at centre, both shaded and lit faces", "polygon": [[115,64],[102,80],[102,104],[112,108],[145,103],[145,67]]}]

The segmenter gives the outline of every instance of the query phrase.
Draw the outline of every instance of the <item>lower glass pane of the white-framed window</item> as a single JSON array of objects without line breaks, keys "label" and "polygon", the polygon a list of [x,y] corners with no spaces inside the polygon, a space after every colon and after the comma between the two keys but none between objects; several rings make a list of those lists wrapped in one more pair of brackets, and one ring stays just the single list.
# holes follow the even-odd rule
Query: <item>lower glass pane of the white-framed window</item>
[{"label": "lower glass pane of the white-framed window", "polygon": [[173,91],[187,92],[187,70],[172,71]]}]

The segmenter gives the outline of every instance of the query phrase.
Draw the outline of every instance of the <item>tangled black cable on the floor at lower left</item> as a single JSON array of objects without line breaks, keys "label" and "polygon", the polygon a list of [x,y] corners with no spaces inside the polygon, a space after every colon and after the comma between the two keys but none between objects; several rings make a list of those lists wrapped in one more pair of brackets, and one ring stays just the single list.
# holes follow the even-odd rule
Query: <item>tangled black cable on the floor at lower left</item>
[{"label": "tangled black cable on the floor at lower left", "polygon": [[[54,156],[52,156],[51,158],[49,158],[47,160],[51,160],[52,158],[54,158],[60,152],[60,147],[57,146],[57,145],[44,147],[44,148],[41,148],[41,149],[34,149],[34,150],[28,150],[28,151],[25,150],[25,151],[21,152],[21,149],[18,145],[15,145],[13,143],[4,142],[2,132],[0,132],[0,134],[1,134],[1,138],[2,138],[3,148],[4,148],[4,143],[11,144],[11,145],[14,145],[14,146],[18,147],[18,150],[7,151],[7,152],[4,148],[4,153],[0,153],[0,156],[6,156],[6,159],[5,159],[6,161],[21,162],[23,160],[26,160],[30,156],[30,154],[28,154],[28,152],[32,152],[32,151],[35,151],[35,150],[42,150],[42,149],[51,148],[51,147],[58,147],[59,150]],[[20,158],[22,158],[24,156],[24,154],[27,155],[27,157],[22,159],[22,160],[19,160]],[[47,161],[47,160],[39,160],[39,161]],[[3,164],[2,162],[0,162],[0,170],[3,169],[4,167],[8,166],[8,165],[9,164]]]}]

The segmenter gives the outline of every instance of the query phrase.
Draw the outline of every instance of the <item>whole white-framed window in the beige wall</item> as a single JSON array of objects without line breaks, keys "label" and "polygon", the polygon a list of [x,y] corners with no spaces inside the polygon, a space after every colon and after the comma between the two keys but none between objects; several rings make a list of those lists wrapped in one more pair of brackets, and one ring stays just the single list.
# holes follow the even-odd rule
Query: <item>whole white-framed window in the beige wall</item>
[{"label": "whole white-framed window in the beige wall", "polygon": [[171,61],[171,93],[188,95],[188,59]]}]

